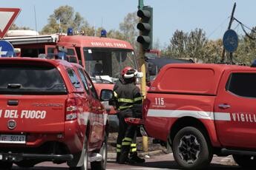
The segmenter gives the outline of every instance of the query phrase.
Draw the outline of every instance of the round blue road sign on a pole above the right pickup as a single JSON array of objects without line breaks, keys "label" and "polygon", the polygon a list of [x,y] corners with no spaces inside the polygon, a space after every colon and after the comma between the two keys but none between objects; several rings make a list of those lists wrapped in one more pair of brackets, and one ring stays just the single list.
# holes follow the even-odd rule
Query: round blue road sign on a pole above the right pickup
[{"label": "round blue road sign on a pole above the right pickup", "polygon": [[228,52],[234,52],[238,47],[238,36],[234,30],[227,30],[223,35],[223,46]]}]

